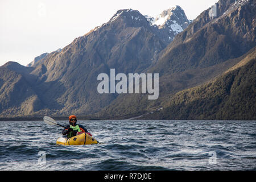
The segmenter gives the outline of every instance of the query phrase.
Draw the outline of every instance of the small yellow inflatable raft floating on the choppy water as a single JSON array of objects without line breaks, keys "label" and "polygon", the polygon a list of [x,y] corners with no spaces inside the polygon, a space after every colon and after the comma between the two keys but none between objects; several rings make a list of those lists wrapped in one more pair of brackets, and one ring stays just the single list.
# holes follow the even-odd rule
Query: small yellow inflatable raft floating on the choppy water
[{"label": "small yellow inflatable raft floating on the choppy water", "polygon": [[56,143],[64,146],[77,146],[82,144],[98,144],[98,141],[87,133],[82,133],[71,138],[60,137],[57,139]]}]

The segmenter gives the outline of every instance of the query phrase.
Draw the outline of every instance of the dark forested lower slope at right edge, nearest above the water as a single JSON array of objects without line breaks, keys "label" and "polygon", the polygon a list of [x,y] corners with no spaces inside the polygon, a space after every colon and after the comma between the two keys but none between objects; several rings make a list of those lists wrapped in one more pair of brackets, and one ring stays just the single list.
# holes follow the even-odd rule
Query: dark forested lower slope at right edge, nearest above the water
[{"label": "dark forested lower slope at right edge, nearest above the water", "polygon": [[143,119],[256,119],[256,48],[213,81],[183,90]]}]

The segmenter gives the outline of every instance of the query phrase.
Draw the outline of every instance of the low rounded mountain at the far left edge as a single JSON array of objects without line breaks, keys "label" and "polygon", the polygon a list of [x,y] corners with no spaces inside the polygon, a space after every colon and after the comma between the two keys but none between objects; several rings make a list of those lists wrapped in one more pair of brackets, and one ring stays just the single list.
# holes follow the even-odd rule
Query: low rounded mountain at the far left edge
[{"label": "low rounded mountain at the far left edge", "polygon": [[0,112],[11,117],[34,114],[42,109],[43,102],[39,99],[28,73],[32,69],[15,62],[8,62],[0,67]]}]

